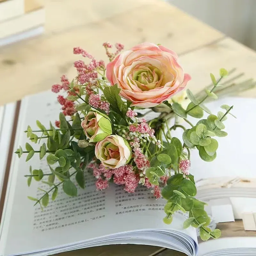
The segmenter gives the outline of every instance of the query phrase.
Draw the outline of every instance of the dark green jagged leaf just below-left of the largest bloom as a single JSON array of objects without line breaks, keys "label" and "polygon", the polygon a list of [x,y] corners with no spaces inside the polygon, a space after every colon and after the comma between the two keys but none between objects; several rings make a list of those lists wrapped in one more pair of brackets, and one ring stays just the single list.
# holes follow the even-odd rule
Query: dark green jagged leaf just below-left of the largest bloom
[{"label": "dark green jagged leaf just below-left of the largest bloom", "polygon": [[103,93],[107,101],[110,103],[111,108],[116,113],[120,113],[122,116],[125,116],[127,108],[119,95],[120,90],[121,89],[117,87],[117,84],[115,84],[113,86],[106,86],[103,90]]}]

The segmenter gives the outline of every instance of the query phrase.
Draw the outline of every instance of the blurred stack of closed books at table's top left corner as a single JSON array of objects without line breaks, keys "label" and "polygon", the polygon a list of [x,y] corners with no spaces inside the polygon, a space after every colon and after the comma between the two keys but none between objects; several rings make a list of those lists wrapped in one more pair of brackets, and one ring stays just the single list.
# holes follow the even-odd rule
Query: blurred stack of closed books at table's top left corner
[{"label": "blurred stack of closed books at table's top left corner", "polygon": [[0,0],[0,46],[44,32],[42,0]]}]

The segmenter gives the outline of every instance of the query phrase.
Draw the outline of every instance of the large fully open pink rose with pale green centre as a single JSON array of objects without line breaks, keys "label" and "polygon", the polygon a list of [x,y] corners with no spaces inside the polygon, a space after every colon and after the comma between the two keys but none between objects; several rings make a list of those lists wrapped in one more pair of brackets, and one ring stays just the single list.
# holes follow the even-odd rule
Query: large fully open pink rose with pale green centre
[{"label": "large fully open pink rose with pale green centre", "polygon": [[177,54],[162,45],[138,44],[107,65],[107,78],[121,89],[132,106],[155,107],[180,92],[191,79],[177,62]]}]

